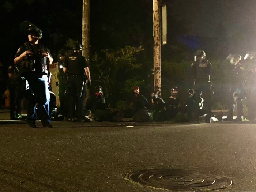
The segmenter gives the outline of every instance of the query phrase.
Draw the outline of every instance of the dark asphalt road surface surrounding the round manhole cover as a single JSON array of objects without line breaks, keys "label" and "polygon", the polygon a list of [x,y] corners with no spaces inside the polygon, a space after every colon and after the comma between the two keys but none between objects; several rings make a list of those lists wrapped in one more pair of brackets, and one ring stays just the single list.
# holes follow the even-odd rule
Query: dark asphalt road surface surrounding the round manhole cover
[{"label": "dark asphalt road surface surrounding the round manhole cover", "polygon": [[52,124],[0,122],[0,191],[167,191],[126,179],[162,168],[233,180],[221,191],[256,191],[256,124]]}]

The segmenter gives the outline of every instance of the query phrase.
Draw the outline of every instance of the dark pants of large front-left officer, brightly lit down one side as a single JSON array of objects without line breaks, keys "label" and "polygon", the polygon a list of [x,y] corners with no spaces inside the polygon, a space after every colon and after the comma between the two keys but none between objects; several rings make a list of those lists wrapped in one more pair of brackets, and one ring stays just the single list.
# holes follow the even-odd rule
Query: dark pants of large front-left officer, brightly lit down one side
[{"label": "dark pants of large front-left officer, brightly lit down one side", "polygon": [[[40,111],[40,117],[43,125],[50,123],[49,102],[50,93],[48,89],[47,75],[39,75],[37,72],[30,72],[27,76],[30,90],[26,90],[26,98],[28,100],[27,121],[34,123],[37,119],[36,103]],[[31,91],[33,94],[31,94]]]}]

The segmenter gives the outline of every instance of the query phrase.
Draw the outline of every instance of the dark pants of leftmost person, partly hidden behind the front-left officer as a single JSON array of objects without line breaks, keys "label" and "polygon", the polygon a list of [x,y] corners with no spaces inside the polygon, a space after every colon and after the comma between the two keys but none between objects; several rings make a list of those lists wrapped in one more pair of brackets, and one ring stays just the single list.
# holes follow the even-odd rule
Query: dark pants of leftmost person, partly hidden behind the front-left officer
[{"label": "dark pants of leftmost person, partly hidden behind the front-left officer", "polygon": [[10,117],[17,118],[21,114],[21,100],[23,98],[22,90],[18,85],[11,82],[9,84],[10,91]]}]

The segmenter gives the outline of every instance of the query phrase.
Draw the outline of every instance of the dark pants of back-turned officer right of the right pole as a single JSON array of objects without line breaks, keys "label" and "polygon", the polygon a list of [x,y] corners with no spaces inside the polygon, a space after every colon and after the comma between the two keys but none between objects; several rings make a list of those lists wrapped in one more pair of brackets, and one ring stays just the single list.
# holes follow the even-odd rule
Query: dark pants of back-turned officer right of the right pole
[{"label": "dark pants of back-turned officer right of the right pole", "polygon": [[[200,96],[202,94],[202,96]],[[205,84],[198,84],[195,87],[195,113],[194,113],[194,120],[199,121],[200,116],[200,106],[199,103],[201,102],[201,98],[204,99],[203,108],[205,108],[206,112],[206,120],[211,119],[211,87],[208,83]]]}]

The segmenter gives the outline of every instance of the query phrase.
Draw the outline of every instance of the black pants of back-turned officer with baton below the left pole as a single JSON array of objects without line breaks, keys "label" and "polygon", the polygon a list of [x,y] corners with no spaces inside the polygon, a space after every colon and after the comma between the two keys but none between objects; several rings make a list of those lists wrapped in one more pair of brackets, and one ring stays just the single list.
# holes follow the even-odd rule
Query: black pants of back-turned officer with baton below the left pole
[{"label": "black pants of back-turned officer with baton below the left pole", "polygon": [[86,97],[85,85],[80,97],[83,76],[71,76],[68,80],[67,91],[69,98],[69,118],[84,118],[84,98]]}]

